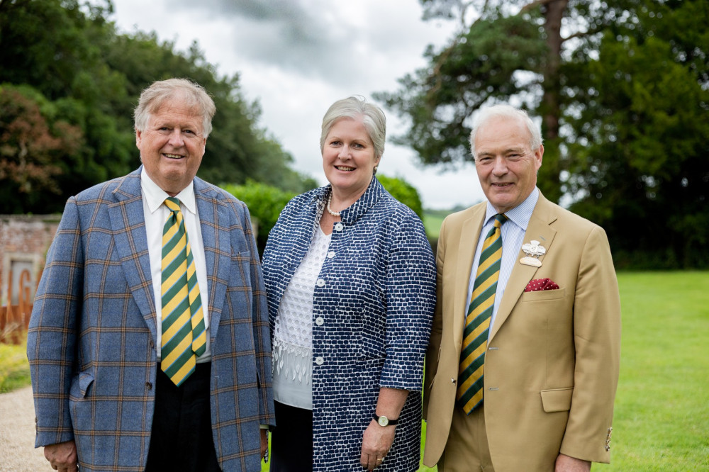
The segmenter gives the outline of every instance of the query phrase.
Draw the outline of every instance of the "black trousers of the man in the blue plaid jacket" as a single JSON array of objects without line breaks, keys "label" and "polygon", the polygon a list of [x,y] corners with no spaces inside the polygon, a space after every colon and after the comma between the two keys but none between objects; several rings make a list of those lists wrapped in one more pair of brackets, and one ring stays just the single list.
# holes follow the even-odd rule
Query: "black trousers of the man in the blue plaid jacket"
[{"label": "black trousers of the man in the blue plaid jacket", "polygon": [[157,366],[146,472],[219,472],[209,409],[211,363],[197,364],[181,386]]}]

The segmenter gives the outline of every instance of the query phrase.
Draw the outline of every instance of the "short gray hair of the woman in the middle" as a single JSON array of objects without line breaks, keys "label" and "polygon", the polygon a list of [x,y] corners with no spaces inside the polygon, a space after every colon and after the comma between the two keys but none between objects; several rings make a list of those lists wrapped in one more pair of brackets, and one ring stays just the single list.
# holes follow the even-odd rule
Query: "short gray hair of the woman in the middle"
[{"label": "short gray hair of the woman in the middle", "polygon": [[362,96],[351,96],[333,103],[323,117],[323,131],[320,133],[320,152],[325,149],[325,138],[330,129],[342,118],[362,119],[364,129],[374,144],[374,157],[384,154],[386,140],[386,116],[376,105],[367,103]]}]

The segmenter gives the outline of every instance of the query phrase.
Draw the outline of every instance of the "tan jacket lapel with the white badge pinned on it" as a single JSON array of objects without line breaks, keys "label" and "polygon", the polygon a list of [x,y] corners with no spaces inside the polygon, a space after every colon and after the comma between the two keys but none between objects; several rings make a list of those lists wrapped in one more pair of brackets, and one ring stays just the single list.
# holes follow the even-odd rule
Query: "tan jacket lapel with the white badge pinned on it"
[{"label": "tan jacket lapel with the white badge pinned on it", "polygon": [[[537,206],[532,213],[532,218],[530,218],[530,223],[527,226],[527,232],[525,232],[523,242],[537,240],[547,251],[549,250],[549,247],[552,246],[554,235],[557,234],[557,231],[549,226],[557,219],[556,216],[552,214],[552,208],[551,203],[540,193],[539,201],[537,201]],[[518,259],[525,257],[525,255],[522,248],[518,248]],[[544,262],[544,256],[540,257],[540,261],[542,261],[542,263]],[[497,314],[495,315],[495,324],[492,327],[490,335],[491,340],[500,330],[500,327],[507,320],[510,313],[512,313],[517,301],[522,293],[524,293],[527,283],[532,280],[538,269],[538,267],[515,262],[512,274],[510,274],[510,279],[507,281],[507,286],[505,287],[505,293],[502,296]]]}]

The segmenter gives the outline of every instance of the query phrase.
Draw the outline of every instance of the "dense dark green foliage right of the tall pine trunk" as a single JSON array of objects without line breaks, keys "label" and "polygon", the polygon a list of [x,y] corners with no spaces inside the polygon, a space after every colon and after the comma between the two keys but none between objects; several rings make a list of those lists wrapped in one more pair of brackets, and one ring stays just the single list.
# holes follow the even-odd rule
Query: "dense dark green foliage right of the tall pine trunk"
[{"label": "dense dark green foliage right of the tall pine trunk", "polygon": [[[603,225],[620,268],[709,266],[705,2],[638,13],[576,66],[571,210]],[[639,231],[640,229],[640,231]]]}]

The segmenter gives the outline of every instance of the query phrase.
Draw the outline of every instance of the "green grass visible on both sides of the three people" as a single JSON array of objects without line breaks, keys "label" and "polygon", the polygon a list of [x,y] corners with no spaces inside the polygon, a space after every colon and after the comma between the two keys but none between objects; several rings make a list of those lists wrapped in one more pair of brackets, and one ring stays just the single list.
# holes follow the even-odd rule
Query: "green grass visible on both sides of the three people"
[{"label": "green grass visible on both sides of the three people", "polygon": [[[593,471],[709,471],[709,272],[621,272],[618,282],[612,463]],[[28,385],[25,349],[0,344],[0,392]]]}]

